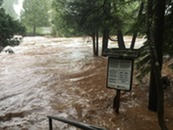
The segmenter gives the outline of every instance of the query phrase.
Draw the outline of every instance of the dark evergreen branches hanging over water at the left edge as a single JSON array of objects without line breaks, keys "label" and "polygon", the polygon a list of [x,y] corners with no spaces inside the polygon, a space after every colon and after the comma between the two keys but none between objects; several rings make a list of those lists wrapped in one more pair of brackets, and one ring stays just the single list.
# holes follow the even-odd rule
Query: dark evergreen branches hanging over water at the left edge
[{"label": "dark evergreen branches hanging over water at the left edge", "polygon": [[18,45],[19,42],[12,38],[14,34],[23,35],[24,33],[24,26],[19,21],[13,20],[12,17],[7,15],[3,8],[0,8],[0,51],[8,45]]}]

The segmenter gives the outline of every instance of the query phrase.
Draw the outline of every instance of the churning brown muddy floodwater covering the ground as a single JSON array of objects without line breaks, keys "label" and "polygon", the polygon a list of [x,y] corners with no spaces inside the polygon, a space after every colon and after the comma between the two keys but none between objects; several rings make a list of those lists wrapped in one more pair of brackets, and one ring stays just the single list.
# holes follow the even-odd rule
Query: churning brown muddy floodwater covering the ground
[{"label": "churning brown muddy floodwater covering the ground", "polygon": [[[156,113],[147,108],[148,85],[139,84],[135,75],[132,91],[121,93],[120,113],[114,113],[116,91],[106,88],[107,58],[94,57],[88,39],[25,37],[12,50],[0,53],[0,130],[48,130],[48,115],[108,130],[160,129]],[[165,90],[169,130],[172,88]],[[58,121],[53,125],[77,130]]]}]

